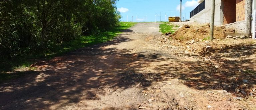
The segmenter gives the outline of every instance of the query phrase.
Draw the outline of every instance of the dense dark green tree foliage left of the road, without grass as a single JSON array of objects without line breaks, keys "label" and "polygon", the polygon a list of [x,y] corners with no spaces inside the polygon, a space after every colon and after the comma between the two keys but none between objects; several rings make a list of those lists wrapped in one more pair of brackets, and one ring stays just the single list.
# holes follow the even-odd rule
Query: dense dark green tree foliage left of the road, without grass
[{"label": "dense dark green tree foliage left of the road, without grass", "polygon": [[0,57],[51,51],[118,25],[116,0],[1,0]]}]

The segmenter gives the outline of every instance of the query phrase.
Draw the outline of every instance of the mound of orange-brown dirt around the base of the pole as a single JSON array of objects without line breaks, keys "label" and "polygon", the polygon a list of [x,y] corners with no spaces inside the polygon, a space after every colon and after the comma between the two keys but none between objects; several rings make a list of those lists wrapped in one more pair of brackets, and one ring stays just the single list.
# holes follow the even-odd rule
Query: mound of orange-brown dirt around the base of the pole
[{"label": "mound of orange-brown dirt around the base of the pole", "polygon": [[[224,26],[221,27],[214,27],[214,37],[216,39],[223,39],[225,38],[224,33],[232,33],[234,32],[234,29],[225,29]],[[191,39],[197,39],[197,40],[207,40],[207,38],[210,36],[210,24],[195,27],[195,26],[183,26],[180,29],[178,29],[174,34],[172,34],[170,37],[173,39],[181,40],[181,41],[188,41]]]}]

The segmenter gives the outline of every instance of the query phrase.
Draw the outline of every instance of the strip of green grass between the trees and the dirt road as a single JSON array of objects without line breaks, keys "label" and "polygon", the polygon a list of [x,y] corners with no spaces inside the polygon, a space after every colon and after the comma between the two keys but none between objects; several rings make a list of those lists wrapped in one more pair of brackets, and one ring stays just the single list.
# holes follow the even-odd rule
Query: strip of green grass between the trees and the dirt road
[{"label": "strip of green grass between the trees and the dirt road", "polygon": [[[44,54],[36,56],[27,56],[22,58],[15,58],[11,61],[0,62],[0,83],[5,80],[10,80],[14,78],[21,77],[25,74],[33,73],[35,68],[30,68],[29,66],[33,64],[36,59],[51,59],[56,56],[61,56],[67,52],[74,51],[79,48],[86,46],[103,43],[112,40],[117,34],[121,33],[123,30],[134,26],[134,22],[120,22],[120,26],[106,32],[99,32],[90,36],[81,36],[80,39],[74,40],[72,42],[63,43],[60,46],[56,46],[51,52],[45,52]],[[13,72],[15,69],[25,69],[27,72]]]}]

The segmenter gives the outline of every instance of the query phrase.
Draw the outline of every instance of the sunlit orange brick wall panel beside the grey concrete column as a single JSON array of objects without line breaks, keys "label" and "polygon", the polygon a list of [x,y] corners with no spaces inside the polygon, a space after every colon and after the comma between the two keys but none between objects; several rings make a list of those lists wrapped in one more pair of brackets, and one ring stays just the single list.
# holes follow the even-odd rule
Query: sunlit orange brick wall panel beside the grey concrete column
[{"label": "sunlit orange brick wall panel beside the grey concrete column", "polygon": [[245,0],[236,0],[236,21],[245,20]]}]

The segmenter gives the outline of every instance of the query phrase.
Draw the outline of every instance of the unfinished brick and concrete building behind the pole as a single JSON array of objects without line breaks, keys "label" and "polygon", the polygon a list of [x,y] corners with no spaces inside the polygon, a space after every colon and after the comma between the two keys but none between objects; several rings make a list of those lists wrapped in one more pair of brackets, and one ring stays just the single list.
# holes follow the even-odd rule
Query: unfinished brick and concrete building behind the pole
[{"label": "unfinished brick and concrete building behind the pole", "polygon": [[[190,12],[190,20],[210,23],[212,0],[198,0],[200,3]],[[215,0],[214,25],[225,25],[236,33],[251,34],[251,15],[254,0]]]}]

